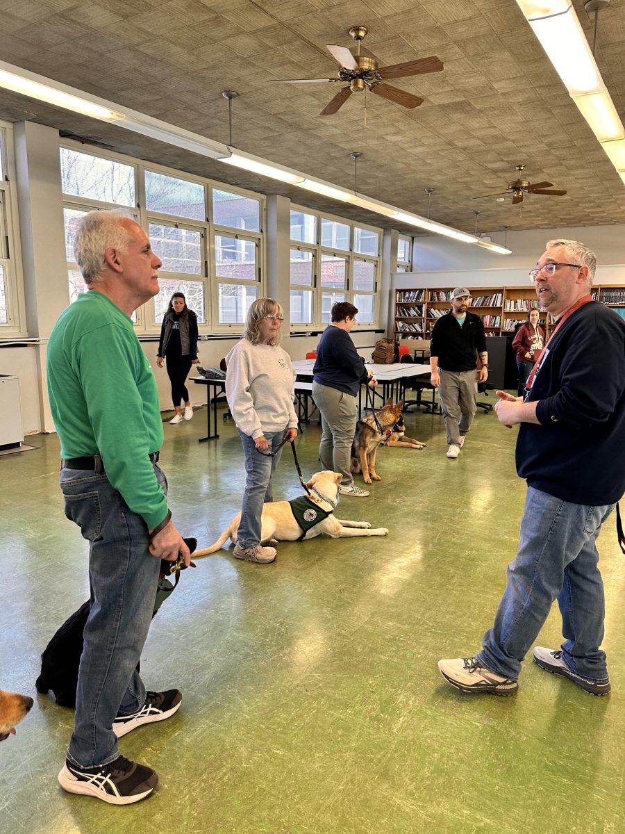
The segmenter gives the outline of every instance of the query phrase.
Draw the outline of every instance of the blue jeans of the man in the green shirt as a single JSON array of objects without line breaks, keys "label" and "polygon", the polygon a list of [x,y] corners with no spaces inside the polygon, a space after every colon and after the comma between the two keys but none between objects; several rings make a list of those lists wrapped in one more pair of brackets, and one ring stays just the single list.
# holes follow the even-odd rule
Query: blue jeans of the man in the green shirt
[{"label": "blue jeans of the man in the green shirt", "polygon": [[[154,465],[167,494],[167,479]],[[148,550],[148,527],[129,509],[100,466],[62,468],[65,515],[89,542],[91,612],[78,671],[76,718],[68,758],[105,765],[119,756],[112,722],[141,709],[146,691],[136,671],[148,636],[161,560]]]}]

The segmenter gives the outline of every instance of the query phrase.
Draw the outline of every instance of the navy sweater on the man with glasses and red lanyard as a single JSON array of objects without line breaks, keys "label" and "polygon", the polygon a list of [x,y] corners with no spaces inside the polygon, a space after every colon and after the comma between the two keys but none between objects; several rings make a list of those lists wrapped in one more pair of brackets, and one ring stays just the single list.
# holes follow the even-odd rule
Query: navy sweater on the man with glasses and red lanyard
[{"label": "navy sweater on the man with glasses and red lanyard", "polygon": [[613,504],[625,492],[625,322],[597,301],[577,309],[544,350],[522,423],[517,473],[572,504]]}]

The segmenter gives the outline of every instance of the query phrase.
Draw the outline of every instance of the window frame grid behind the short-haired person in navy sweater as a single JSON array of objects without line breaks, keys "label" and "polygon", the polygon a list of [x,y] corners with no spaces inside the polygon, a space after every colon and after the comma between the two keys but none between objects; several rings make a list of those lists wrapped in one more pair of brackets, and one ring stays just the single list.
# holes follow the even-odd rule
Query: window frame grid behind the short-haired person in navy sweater
[{"label": "window frame grid behind the short-haired person in navy sweater", "polygon": [[[290,214],[289,214],[289,269],[290,269],[290,250],[291,249],[302,249],[304,251],[312,252],[313,253],[313,286],[304,285],[304,284],[295,284],[291,281],[291,276],[289,274],[289,299],[291,290],[303,290],[308,289],[313,291],[313,310],[314,310],[314,322],[311,324],[302,324],[302,323],[294,323],[290,322],[290,332],[293,334],[296,333],[306,333],[310,330],[323,330],[328,326],[328,322],[324,322],[323,319],[323,294],[330,293],[330,292],[338,292],[344,293],[346,299],[353,304],[353,297],[354,294],[357,295],[371,295],[373,296],[373,322],[360,322],[356,321],[354,324],[354,330],[373,330],[379,328],[379,318],[380,318],[380,298],[378,293],[378,287],[380,284],[380,274],[382,269],[382,241],[383,241],[383,229],[378,228],[378,226],[372,226],[369,224],[358,223],[355,220],[350,220],[348,218],[340,217],[337,214],[329,214],[325,211],[319,211],[314,208],[308,208],[307,206],[303,206],[299,203],[291,203],[290,210],[293,212],[300,212],[303,214],[311,214],[317,218],[317,242],[315,244],[308,244],[304,243],[303,241],[293,240],[290,236]],[[323,220],[330,220],[333,222],[337,222],[343,225],[349,226],[349,248],[348,249],[336,249],[330,246],[324,246],[321,243],[322,239],[322,221]],[[366,229],[378,234],[378,254],[377,255],[368,255],[362,254],[360,252],[354,251],[354,229]],[[341,258],[346,260],[346,270],[345,270],[345,288],[341,289],[338,287],[334,288],[327,288],[323,289],[322,282],[321,282],[321,264],[323,255],[328,254],[332,255],[334,258]],[[374,264],[374,280],[373,280],[373,290],[363,290],[363,289],[354,289],[354,280],[353,280],[353,264],[357,261],[367,261],[369,263]],[[290,320],[290,314],[289,314]]]}]

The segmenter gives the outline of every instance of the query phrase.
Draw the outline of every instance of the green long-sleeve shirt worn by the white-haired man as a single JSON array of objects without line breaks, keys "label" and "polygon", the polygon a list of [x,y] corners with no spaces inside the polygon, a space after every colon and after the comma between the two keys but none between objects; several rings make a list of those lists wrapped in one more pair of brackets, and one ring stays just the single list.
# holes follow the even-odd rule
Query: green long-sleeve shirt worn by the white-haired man
[{"label": "green long-sleeve shirt worn by the white-haired man", "polygon": [[59,316],[47,390],[62,457],[100,455],[130,509],[157,527],[168,505],[148,458],[163,445],[156,380],[132,320],[106,295],[90,290]]}]

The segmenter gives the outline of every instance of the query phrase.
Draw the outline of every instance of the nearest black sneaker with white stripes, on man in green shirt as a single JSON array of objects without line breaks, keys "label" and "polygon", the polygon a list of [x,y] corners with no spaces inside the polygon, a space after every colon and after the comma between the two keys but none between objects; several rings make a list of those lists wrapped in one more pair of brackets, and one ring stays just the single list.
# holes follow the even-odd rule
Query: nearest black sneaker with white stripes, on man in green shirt
[{"label": "nearest black sneaker with white stripes, on man in green shirt", "polygon": [[66,759],[58,782],[68,793],[95,796],[111,805],[130,805],[150,796],[158,785],[158,776],[151,767],[123,756],[97,767],[80,767]]}]

